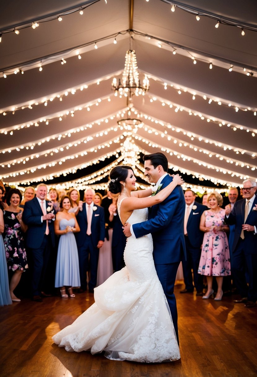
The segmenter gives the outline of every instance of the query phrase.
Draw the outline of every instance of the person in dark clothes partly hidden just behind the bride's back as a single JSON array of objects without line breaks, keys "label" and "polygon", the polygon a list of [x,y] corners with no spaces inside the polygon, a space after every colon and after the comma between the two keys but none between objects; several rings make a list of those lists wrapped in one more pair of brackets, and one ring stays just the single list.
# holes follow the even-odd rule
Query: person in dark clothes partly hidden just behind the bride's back
[{"label": "person in dark clothes partly hidden just behind the bride's back", "polygon": [[122,223],[118,215],[117,208],[118,196],[113,197],[112,204],[109,207],[109,221],[112,224],[113,233],[112,233],[112,264],[113,271],[119,271],[125,267],[124,262],[124,249],[126,246],[126,237],[123,233]]}]

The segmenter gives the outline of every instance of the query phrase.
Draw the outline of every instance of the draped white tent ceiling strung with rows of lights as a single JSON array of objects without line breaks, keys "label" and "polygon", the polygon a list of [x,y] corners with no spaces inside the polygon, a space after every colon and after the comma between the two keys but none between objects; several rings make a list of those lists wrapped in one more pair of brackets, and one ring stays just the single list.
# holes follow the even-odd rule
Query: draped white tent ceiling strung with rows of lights
[{"label": "draped white tent ceiling strung with rows of lights", "polygon": [[[4,2],[4,182],[54,182],[63,173],[65,182],[66,174],[83,166],[87,175],[87,166],[98,162],[101,177],[109,171],[110,156],[120,161],[127,137],[139,152],[164,151],[170,167],[196,176],[196,184],[199,178],[236,185],[257,178],[256,2],[235,1],[231,8],[222,0],[185,0],[171,12],[168,0],[134,1],[132,47],[139,72],[150,80],[149,92],[133,97],[132,114],[143,123],[136,133],[118,127],[127,100],[111,89],[113,77],[122,76],[130,45],[130,5],[128,0]],[[36,21],[39,27],[32,29]],[[19,69],[24,74],[14,74]]]}]

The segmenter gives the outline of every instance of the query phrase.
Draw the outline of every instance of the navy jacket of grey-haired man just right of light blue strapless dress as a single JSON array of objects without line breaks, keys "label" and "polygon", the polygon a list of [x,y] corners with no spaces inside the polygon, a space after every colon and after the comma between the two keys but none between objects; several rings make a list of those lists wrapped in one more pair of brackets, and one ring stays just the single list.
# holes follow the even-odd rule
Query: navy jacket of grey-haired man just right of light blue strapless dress
[{"label": "navy jacket of grey-haired man just right of light blue strapless dress", "polygon": [[[91,237],[93,246],[97,247],[98,241],[104,241],[105,237],[105,221],[104,221],[104,208],[95,205],[96,210],[92,213],[91,221]],[[76,242],[78,247],[83,246],[86,240],[87,234],[87,211],[86,203],[82,205],[82,211],[78,211],[77,215],[78,225],[80,226],[80,232],[75,233]]]}]

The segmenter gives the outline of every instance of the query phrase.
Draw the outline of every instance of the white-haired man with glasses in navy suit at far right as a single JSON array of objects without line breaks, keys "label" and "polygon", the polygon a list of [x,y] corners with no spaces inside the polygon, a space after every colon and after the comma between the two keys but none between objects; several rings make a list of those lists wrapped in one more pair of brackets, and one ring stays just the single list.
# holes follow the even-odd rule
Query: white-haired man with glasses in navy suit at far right
[{"label": "white-haired man with glasses in navy suit at far right", "polygon": [[[241,295],[234,302],[245,302],[245,307],[255,306],[257,300],[257,183],[253,179],[243,181],[245,199],[235,203],[233,210],[226,208],[225,222],[235,224],[232,246],[231,272],[233,281]],[[245,272],[248,272],[249,286]]]}]

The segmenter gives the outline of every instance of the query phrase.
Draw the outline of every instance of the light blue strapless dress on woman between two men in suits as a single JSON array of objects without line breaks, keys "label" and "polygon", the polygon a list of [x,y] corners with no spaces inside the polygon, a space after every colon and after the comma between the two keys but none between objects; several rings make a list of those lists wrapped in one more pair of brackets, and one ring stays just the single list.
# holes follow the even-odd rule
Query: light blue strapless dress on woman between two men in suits
[{"label": "light blue strapless dress on woman between two men in suits", "polygon": [[[60,230],[75,226],[75,219],[61,219]],[[55,287],[80,287],[78,248],[72,232],[62,234],[59,240],[55,271]]]}]

